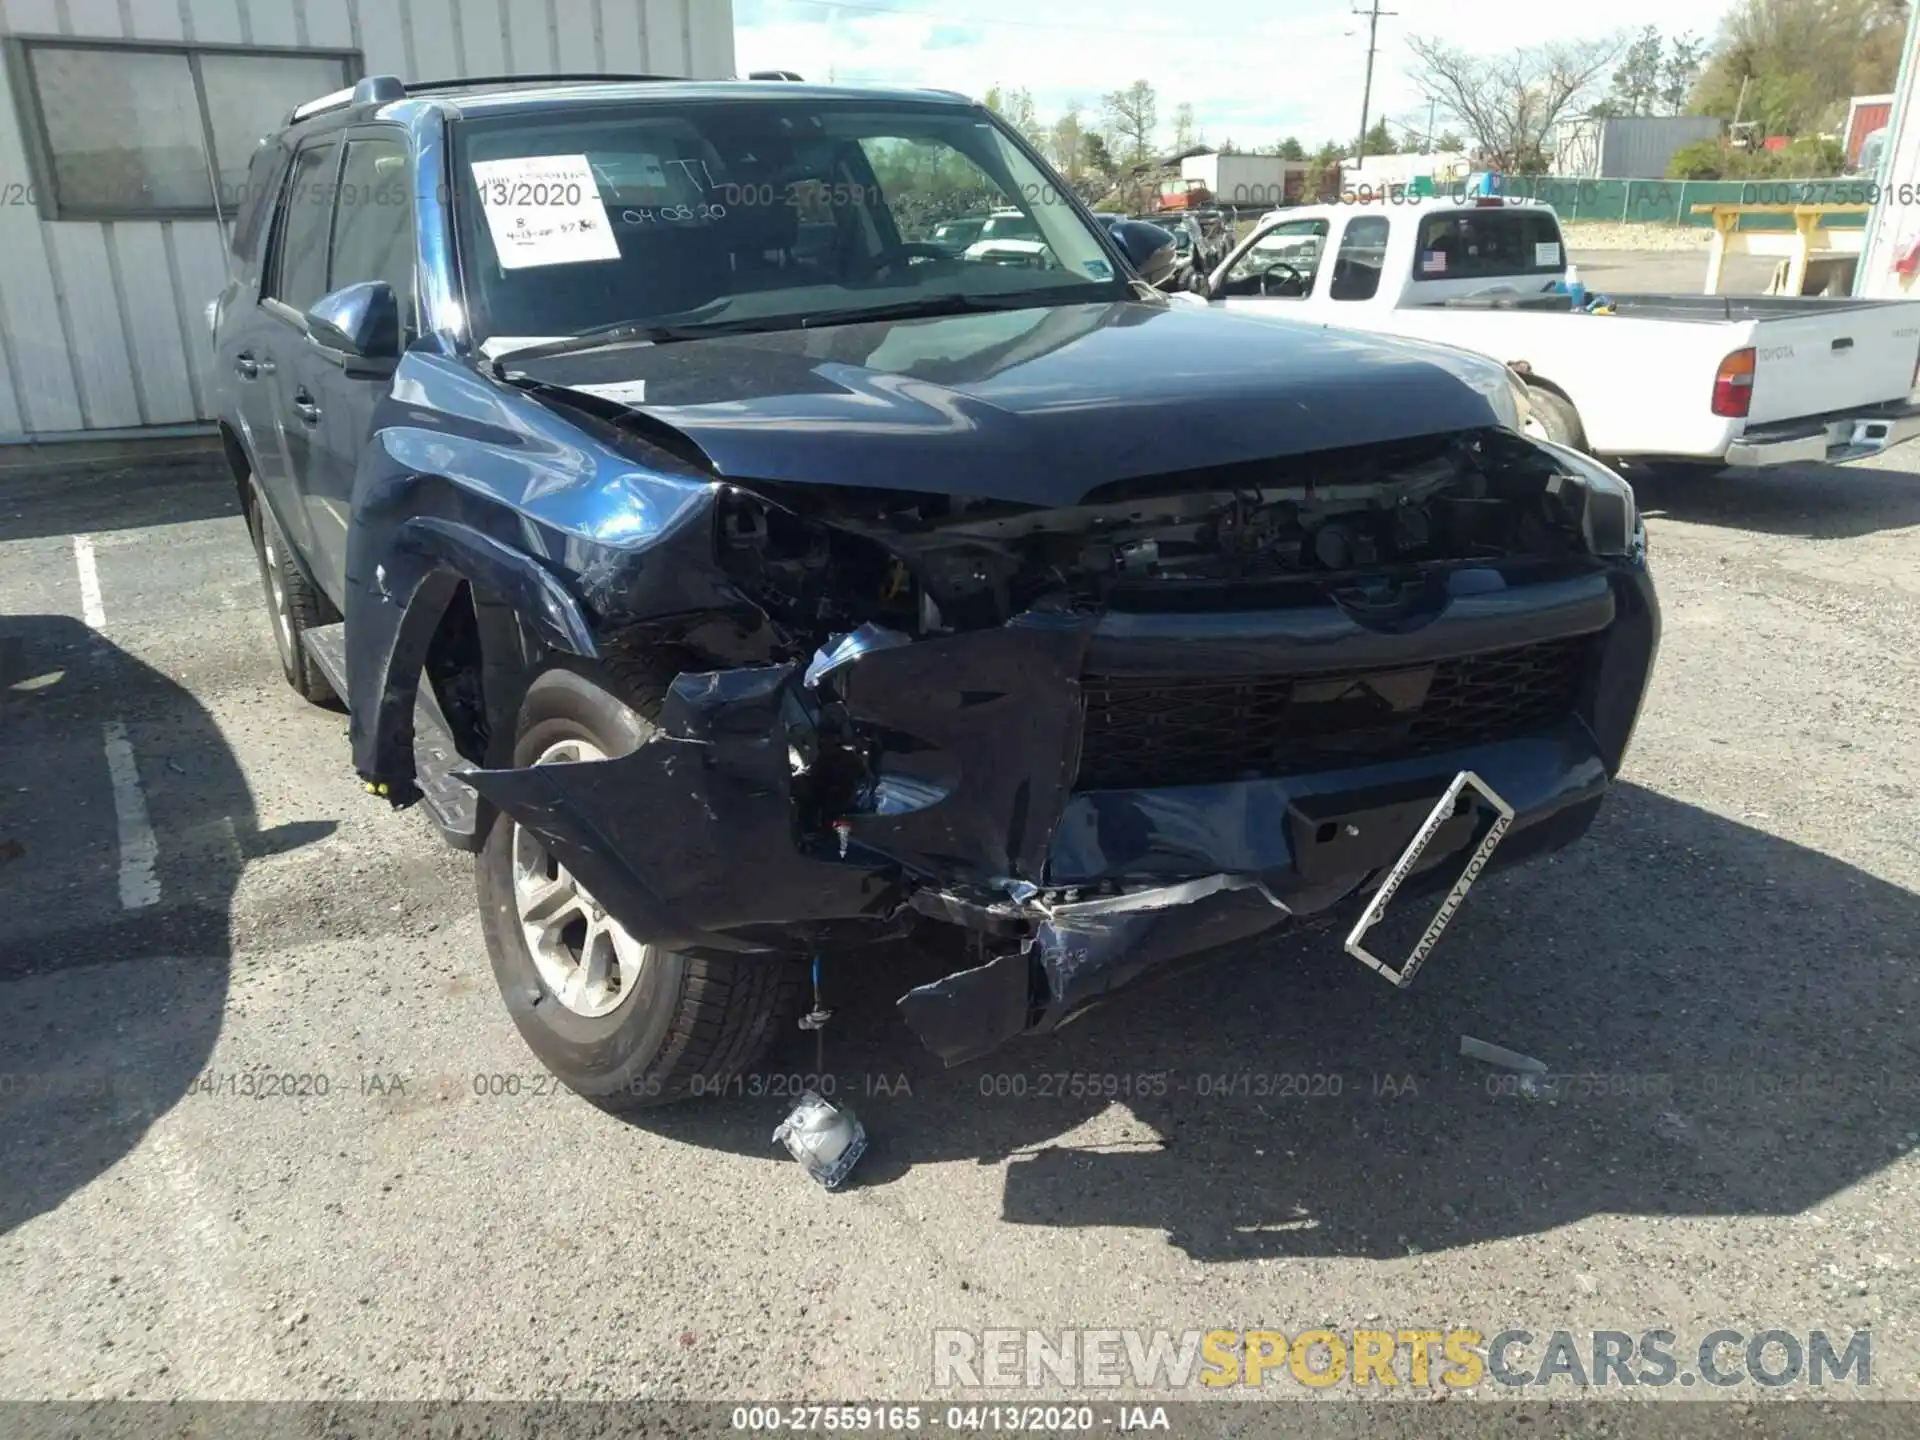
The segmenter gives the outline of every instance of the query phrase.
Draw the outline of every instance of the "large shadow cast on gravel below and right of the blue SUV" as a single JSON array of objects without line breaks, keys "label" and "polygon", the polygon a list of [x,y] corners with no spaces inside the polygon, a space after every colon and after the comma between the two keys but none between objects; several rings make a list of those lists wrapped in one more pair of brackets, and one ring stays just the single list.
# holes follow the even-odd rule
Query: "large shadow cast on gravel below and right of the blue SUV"
[{"label": "large shadow cast on gravel below and right of the blue SUV", "polygon": [[[1916,933],[1920,897],[1622,785],[1582,845],[1475,889],[1411,991],[1334,933],[1254,941],[941,1071],[891,1012],[937,966],[889,956],[841,966],[826,1069],[874,1135],[860,1185],[1006,1162],[1006,1221],[1156,1229],[1196,1260],[1791,1213],[1920,1140]],[[1544,1060],[1557,1098],[1463,1033]],[[810,1069],[795,1037],[758,1096],[647,1123],[791,1167],[772,1091]]]}]

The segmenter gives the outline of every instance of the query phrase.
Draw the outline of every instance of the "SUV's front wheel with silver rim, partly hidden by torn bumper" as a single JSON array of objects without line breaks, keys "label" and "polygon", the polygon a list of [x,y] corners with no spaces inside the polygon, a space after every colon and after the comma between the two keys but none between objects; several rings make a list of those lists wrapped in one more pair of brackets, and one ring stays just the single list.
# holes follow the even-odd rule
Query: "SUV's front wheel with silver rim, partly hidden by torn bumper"
[{"label": "SUV's front wheel with silver rim, partly hidden by torn bumper", "polygon": [[[659,676],[624,664],[591,676],[547,670],[520,707],[513,764],[630,755],[653,733],[647,716],[662,697]],[[555,874],[584,904],[557,937],[549,920],[536,945],[526,916],[538,924],[541,912],[524,904],[540,877],[553,883]],[[493,979],[513,1023],[563,1085],[603,1110],[628,1114],[720,1092],[797,1012],[804,966],[785,956],[703,958],[639,947],[605,914],[595,922],[593,899],[505,814],[493,820],[476,879]],[[582,939],[611,947],[595,950],[605,966],[599,985],[582,973],[589,970],[578,962]],[[576,956],[572,972],[568,954]]]}]

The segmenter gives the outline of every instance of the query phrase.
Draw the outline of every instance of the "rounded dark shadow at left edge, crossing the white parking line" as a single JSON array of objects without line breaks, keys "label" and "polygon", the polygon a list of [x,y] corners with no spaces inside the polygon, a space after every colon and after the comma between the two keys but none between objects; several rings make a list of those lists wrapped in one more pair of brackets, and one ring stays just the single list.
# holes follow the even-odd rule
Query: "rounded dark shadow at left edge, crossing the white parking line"
[{"label": "rounded dark shadow at left edge, crossing the white parking line", "polygon": [[[111,726],[159,829],[159,900],[131,910]],[[192,695],[79,620],[0,616],[0,1233],[102,1175],[202,1073],[244,860],[330,824],[282,829],[255,829]]]}]

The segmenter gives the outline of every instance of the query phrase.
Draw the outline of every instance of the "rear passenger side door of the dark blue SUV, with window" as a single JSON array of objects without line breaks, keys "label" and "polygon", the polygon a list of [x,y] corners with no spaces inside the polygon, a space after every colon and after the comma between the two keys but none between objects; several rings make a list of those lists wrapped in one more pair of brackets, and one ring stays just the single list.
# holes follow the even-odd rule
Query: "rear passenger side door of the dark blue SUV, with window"
[{"label": "rear passenger side door of the dark blue SUV, with window", "polygon": [[294,154],[259,301],[273,332],[275,369],[265,382],[273,392],[273,422],[286,463],[284,488],[273,497],[273,509],[286,538],[307,563],[307,570],[336,603],[338,582],[315,547],[313,524],[307,518],[307,486],[317,465],[319,428],[307,309],[326,294],[326,244],[338,177],[338,136],[309,140]]}]

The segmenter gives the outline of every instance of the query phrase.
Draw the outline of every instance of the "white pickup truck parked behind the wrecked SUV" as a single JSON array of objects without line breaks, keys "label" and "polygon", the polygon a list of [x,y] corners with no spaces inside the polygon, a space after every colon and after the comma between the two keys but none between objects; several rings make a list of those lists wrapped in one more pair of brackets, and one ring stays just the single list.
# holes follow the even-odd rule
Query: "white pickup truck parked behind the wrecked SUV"
[{"label": "white pickup truck parked behind the wrecked SUV", "polygon": [[1837,463],[1920,434],[1920,301],[1609,294],[1590,313],[1565,275],[1540,202],[1300,205],[1263,217],[1204,298],[1505,361],[1549,440],[1647,468]]}]

